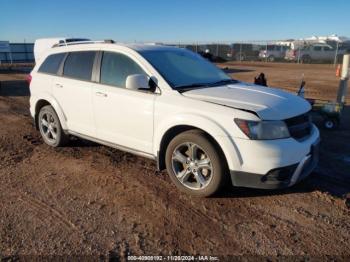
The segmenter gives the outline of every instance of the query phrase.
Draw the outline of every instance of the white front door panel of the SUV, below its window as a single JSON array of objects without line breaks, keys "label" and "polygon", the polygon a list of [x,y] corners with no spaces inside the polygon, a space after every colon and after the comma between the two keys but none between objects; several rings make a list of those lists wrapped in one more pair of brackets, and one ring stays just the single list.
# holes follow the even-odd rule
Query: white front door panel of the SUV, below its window
[{"label": "white front door panel of the SUV, below its window", "polygon": [[93,93],[96,137],[137,151],[153,153],[156,96],[100,84],[94,84]]}]

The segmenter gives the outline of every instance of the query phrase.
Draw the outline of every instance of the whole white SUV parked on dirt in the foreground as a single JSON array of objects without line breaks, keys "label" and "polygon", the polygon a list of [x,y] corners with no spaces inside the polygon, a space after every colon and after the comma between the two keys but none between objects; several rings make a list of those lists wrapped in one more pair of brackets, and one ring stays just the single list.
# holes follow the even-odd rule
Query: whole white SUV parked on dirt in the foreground
[{"label": "whole white SUV parked on dirt in the foreground", "polygon": [[30,111],[44,141],[77,136],[157,161],[181,190],[275,189],[318,161],[304,99],[231,79],[189,50],[108,42],[51,48],[31,72]]}]

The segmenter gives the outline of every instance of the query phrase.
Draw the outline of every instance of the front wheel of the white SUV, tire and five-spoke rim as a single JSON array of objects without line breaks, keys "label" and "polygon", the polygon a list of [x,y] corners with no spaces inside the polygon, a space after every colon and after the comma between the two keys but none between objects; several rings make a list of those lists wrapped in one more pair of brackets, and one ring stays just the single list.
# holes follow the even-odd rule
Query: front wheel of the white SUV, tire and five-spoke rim
[{"label": "front wheel of the white SUV, tire and five-spoke rim", "polygon": [[186,131],[173,138],[165,161],[174,184],[193,196],[213,195],[228,177],[220,151],[200,130]]}]

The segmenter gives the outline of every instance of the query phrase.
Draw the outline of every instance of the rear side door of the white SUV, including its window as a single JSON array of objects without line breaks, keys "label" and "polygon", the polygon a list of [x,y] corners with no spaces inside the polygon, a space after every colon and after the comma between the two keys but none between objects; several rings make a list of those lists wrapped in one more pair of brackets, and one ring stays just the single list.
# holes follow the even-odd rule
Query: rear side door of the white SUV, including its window
[{"label": "rear side door of the white SUV, including its window", "polygon": [[70,131],[95,136],[92,112],[92,68],[96,51],[67,54],[61,77],[53,83],[53,93],[66,117]]}]

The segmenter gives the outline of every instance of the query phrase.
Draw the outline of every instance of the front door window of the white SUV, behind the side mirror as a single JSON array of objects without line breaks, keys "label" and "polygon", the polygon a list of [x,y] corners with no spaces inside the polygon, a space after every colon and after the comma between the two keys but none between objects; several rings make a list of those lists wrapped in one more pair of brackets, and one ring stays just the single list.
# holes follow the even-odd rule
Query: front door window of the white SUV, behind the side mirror
[{"label": "front door window of the white SUV, behind the side mirror", "polygon": [[133,74],[145,74],[131,58],[111,52],[104,52],[101,63],[102,84],[125,87],[126,78]]}]

